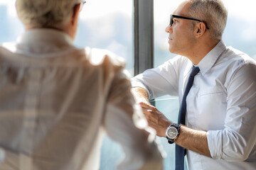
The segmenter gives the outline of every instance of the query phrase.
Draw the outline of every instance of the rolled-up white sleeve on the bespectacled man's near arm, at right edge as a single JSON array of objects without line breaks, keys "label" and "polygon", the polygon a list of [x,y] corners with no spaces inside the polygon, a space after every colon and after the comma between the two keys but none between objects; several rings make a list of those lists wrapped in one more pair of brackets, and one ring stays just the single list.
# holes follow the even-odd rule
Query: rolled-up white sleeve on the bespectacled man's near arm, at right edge
[{"label": "rolled-up white sleeve on the bespectacled man's near arm, at right edge", "polygon": [[242,162],[256,143],[256,66],[242,64],[226,82],[227,114],[223,130],[207,132],[213,159]]}]

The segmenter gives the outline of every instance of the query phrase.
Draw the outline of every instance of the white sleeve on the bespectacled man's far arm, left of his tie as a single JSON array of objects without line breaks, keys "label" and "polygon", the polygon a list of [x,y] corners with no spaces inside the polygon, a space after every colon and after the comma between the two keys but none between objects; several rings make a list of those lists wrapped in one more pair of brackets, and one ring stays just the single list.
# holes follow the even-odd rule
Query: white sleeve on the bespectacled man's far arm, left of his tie
[{"label": "white sleeve on the bespectacled man's far arm, left of his tie", "polygon": [[183,57],[176,56],[154,69],[147,69],[132,79],[132,87],[142,87],[149,99],[169,94],[178,96],[178,75]]}]

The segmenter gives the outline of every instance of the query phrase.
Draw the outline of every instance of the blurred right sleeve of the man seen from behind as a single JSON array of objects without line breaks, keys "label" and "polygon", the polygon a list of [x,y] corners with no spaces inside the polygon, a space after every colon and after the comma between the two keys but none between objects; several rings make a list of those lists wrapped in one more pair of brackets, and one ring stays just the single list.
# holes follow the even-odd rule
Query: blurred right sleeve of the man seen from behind
[{"label": "blurred right sleeve of the man seen from behind", "polygon": [[107,101],[107,135],[122,146],[125,154],[117,169],[163,169],[155,131],[149,128],[141,108],[135,104],[130,81],[123,72],[114,78]]}]

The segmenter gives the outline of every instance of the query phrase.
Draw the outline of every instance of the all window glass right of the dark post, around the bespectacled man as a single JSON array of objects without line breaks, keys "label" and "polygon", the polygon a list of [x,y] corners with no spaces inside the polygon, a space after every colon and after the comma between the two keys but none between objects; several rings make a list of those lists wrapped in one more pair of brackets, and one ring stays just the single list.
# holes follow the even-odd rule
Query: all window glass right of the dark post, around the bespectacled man
[{"label": "all window glass right of the dark post, around the bespectacled man", "polygon": [[[256,13],[252,13],[255,10],[255,2],[250,0],[223,0],[223,2],[228,8],[228,23],[223,34],[225,44],[247,53],[256,60]],[[176,56],[169,52],[169,34],[165,32],[165,28],[169,25],[170,14],[180,3],[181,1],[154,1],[154,67]],[[177,122],[178,99],[169,98],[175,96],[156,98],[156,108],[167,118]],[[169,145],[164,137],[160,140],[168,154],[164,160],[164,169],[174,169],[174,145]]]}]

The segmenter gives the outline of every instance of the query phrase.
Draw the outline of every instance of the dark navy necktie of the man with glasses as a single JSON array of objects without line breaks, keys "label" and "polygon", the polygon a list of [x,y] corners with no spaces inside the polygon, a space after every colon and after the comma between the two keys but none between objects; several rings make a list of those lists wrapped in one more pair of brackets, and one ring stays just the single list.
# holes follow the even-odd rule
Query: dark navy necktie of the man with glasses
[{"label": "dark navy necktie of the man with glasses", "polygon": [[[199,67],[192,67],[192,72],[189,75],[188,78],[188,84],[186,85],[186,89],[184,91],[183,94],[183,98],[181,101],[181,108],[179,110],[178,113],[178,124],[182,124],[185,125],[185,115],[186,115],[186,96],[188,96],[188,92],[191,89],[191,86],[193,85],[193,79],[196,76],[196,74],[198,74],[198,72],[200,71]],[[183,147],[180,147],[178,145],[176,145],[175,148],[175,162],[176,162],[176,166],[175,169],[176,170],[183,170],[184,169],[184,157],[186,155],[186,149],[184,149]]]}]

